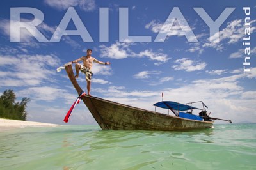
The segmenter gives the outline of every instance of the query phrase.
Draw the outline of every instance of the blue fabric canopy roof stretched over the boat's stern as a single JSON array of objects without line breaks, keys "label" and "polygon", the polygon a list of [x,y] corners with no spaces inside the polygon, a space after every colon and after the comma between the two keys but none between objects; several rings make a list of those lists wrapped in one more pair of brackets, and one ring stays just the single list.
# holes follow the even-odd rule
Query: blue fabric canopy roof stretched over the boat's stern
[{"label": "blue fabric canopy roof stretched over the boat's stern", "polygon": [[[198,109],[196,107],[192,107],[190,105],[185,105],[185,104],[180,104],[177,102],[172,102],[172,101],[162,101],[162,102],[158,102],[156,104],[154,104],[154,106],[156,107],[161,107],[164,109],[174,109],[177,111],[188,111],[191,109]],[[202,110],[202,109],[199,109]]]}]

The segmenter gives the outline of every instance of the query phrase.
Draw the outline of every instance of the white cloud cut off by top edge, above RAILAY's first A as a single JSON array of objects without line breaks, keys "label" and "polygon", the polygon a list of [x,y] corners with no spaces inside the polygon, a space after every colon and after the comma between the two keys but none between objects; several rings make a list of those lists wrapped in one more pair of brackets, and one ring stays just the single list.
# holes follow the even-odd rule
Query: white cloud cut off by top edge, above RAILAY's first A
[{"label": "white cloud cut off by top edge, above RAILAY's first A", "polygon": [[93,11],[96,8],[95,0],[61,0],[61,1],[51,1],[45,0],[45,3],[52,8],[58,10],[66,10],[68,7],[78,6],[81,10],[84,11]]}]

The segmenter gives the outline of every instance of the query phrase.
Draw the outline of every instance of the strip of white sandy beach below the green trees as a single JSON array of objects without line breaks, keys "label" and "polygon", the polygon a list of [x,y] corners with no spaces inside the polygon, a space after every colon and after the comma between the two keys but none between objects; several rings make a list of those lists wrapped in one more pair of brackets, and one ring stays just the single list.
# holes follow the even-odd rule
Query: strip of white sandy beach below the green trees
[{"label": "strip of white sandy beach below the green trees", "polygon": [[51,123],[40,123],[36,121],[8,120],[0,118],[0,131],[22,127],[56,127],[61,125]]}]

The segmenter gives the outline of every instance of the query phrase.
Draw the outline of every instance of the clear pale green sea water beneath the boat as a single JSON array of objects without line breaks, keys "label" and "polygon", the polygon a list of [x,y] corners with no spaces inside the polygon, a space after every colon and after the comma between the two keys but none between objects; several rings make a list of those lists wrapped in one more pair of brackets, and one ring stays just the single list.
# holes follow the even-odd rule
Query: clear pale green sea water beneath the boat
[{"label": "clear pale green sea water beneath the boat", "polygon": [[187,132],[18,128],[0,132],[0,169],[256,169],[256,124]]}]

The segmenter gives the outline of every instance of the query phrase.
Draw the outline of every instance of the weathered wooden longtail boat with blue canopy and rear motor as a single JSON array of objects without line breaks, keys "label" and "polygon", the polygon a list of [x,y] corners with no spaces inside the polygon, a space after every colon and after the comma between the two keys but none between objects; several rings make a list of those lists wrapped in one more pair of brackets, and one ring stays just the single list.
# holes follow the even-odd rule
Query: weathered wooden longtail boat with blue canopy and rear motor
[{"label": "weathered wooden longtail boat with blue canopy and rear motor", "polygon": [[[65,70],[77,93],[83,93],[74,77],[72,65],[65,65]],[[191,130],[211,128],[214,123],[212,120],[218,120],[218,118],[210,118],[206,114],[205,107],[200,116],[182,112],[198,108],[177,102],[162,101],[154,104],[156,107],[170,109],[173,113],[176,111],[177,115],[171,116],[89,95],[83,95],[81,99],[102,130]]]}]

